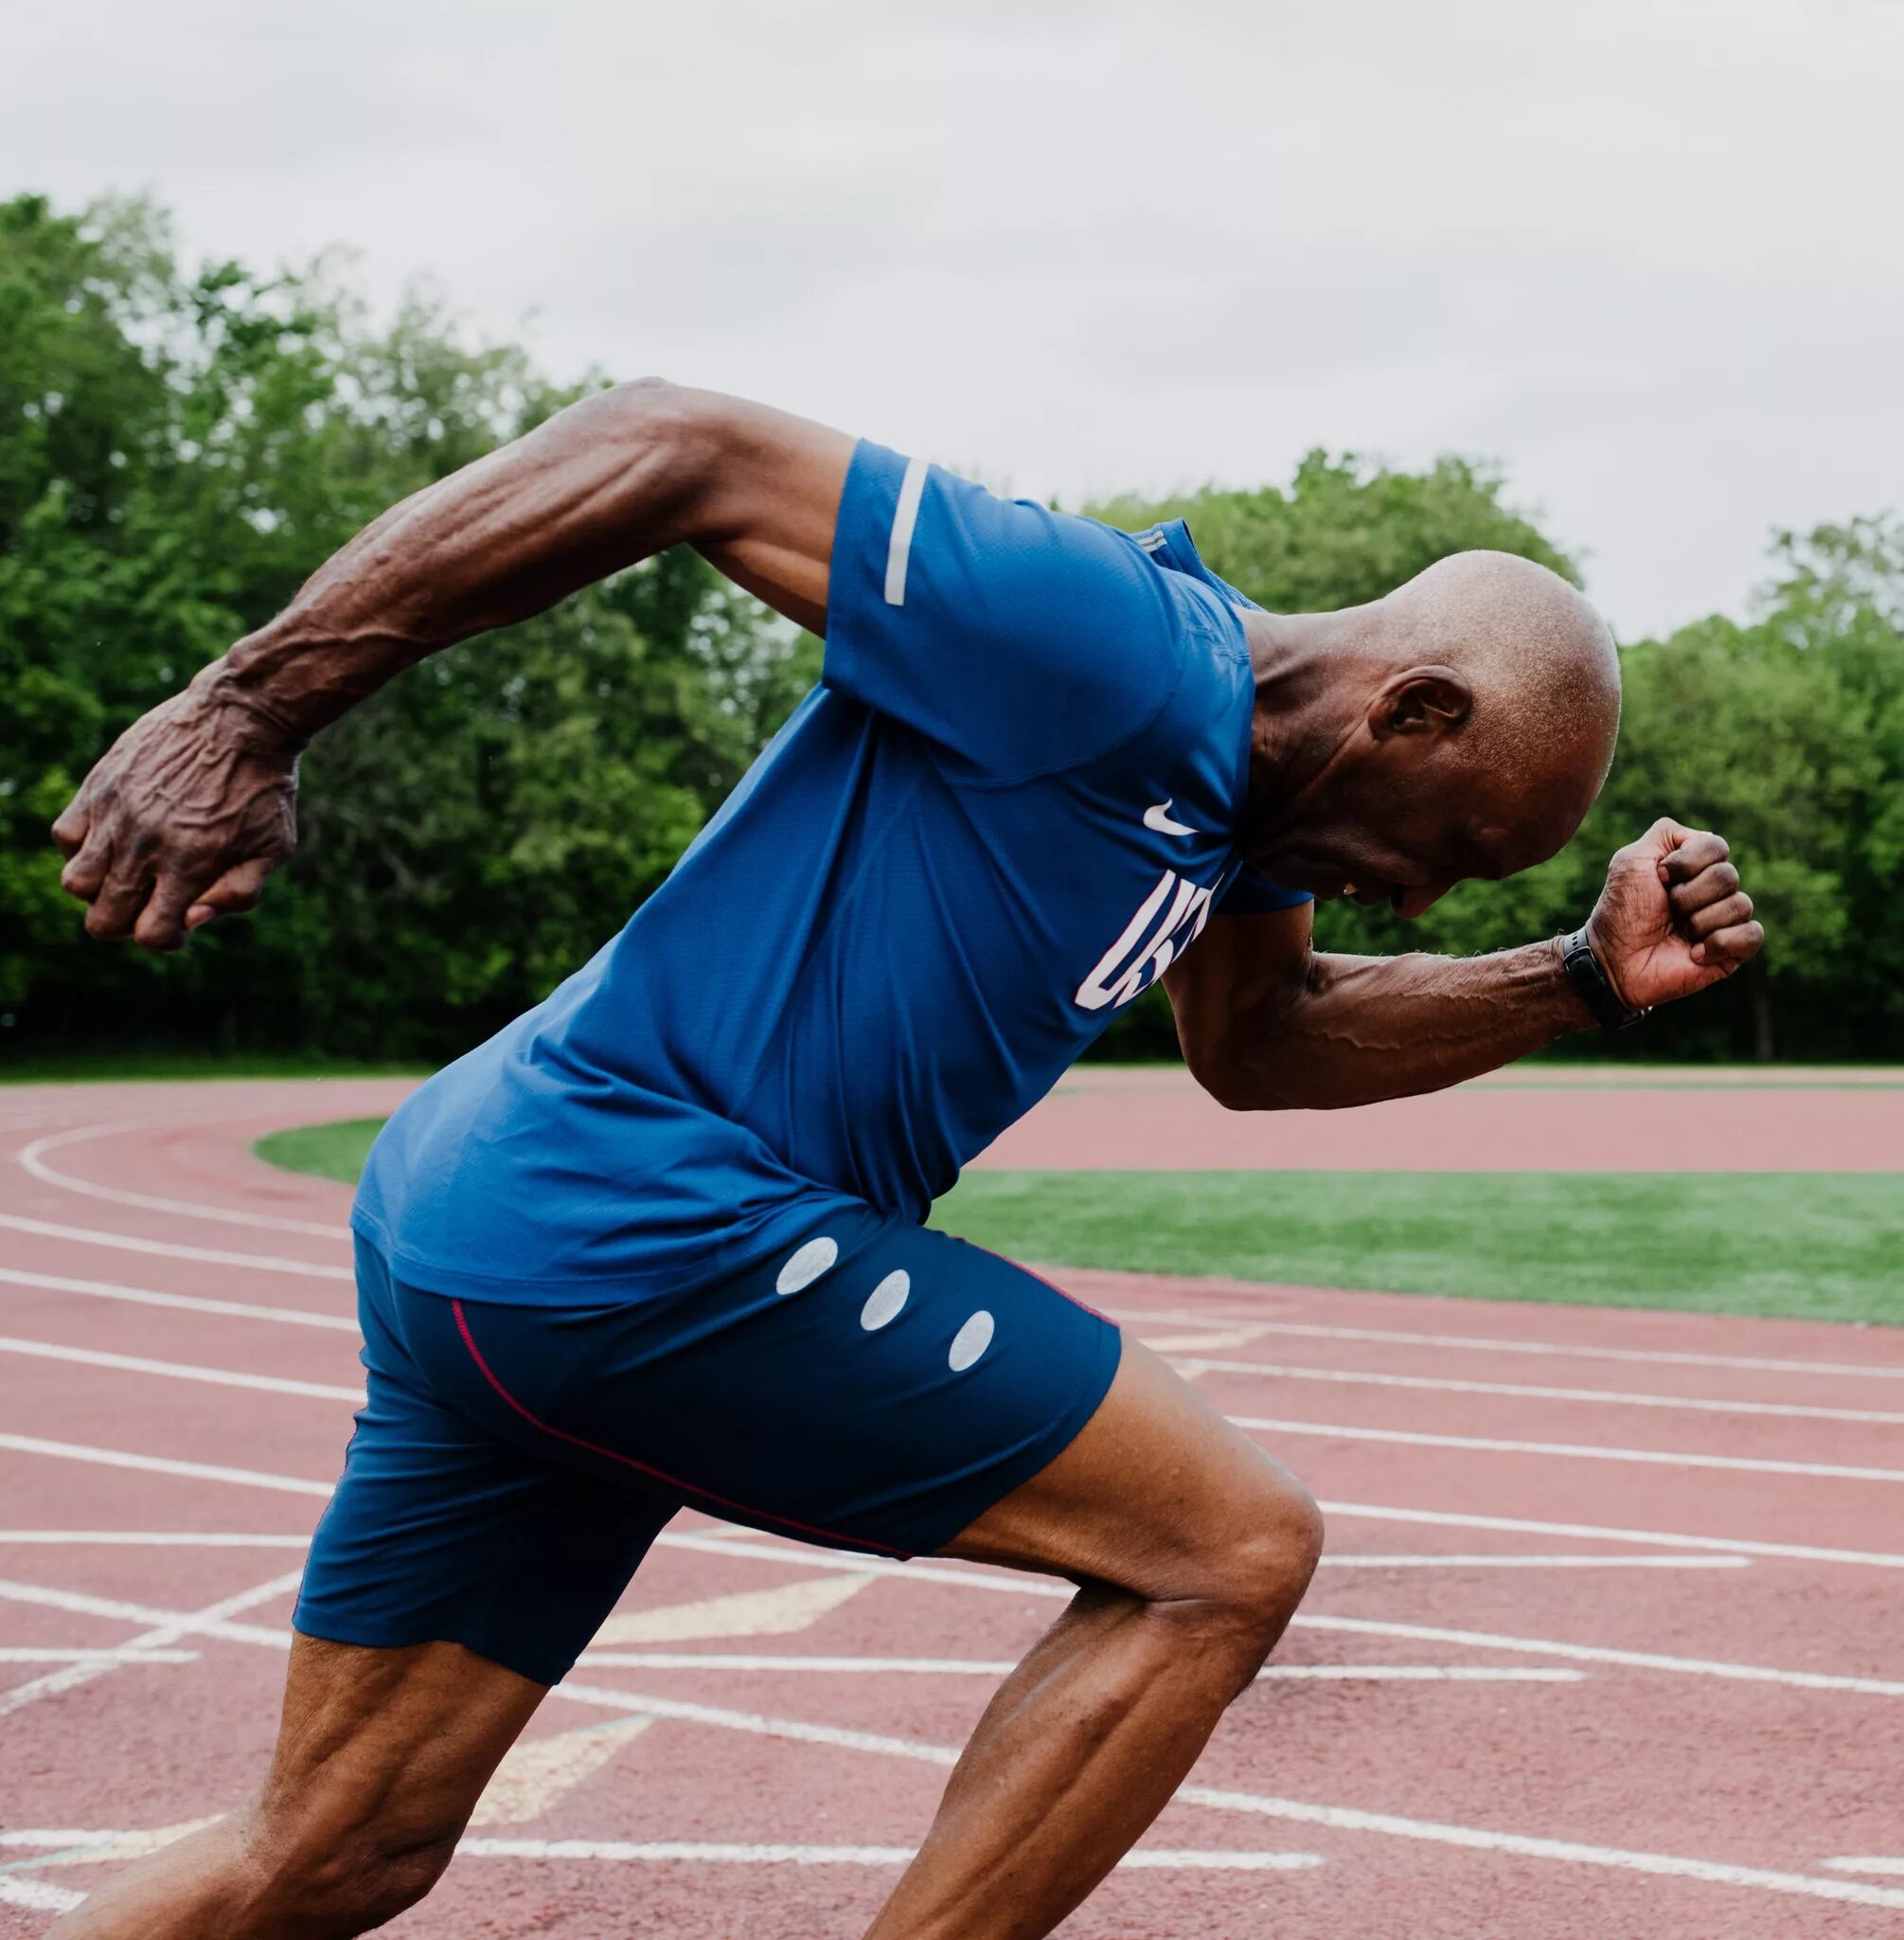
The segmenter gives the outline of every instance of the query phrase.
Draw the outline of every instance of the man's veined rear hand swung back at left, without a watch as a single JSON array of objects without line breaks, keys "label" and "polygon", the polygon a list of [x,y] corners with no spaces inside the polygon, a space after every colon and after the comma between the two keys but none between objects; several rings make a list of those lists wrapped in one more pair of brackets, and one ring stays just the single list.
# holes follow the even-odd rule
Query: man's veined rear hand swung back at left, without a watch
[{"label": "man's veined rear hand swung back at left, without a watch", "polygon": [[136,720],[52,824],[95,937],[176,951],[252,908],[297,842],[297,747],[221,671]]}]

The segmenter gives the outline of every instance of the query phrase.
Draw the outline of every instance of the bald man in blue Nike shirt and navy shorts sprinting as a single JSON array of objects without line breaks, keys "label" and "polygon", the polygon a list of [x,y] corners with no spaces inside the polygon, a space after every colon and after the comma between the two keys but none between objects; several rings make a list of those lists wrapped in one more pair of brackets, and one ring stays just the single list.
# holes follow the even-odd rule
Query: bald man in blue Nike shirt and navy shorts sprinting
[{"label": "bald man in blue Nike shirt and navy shorts sprinting", "polygon": [[1551,572],[1466,553],[1264,613],[1183,524],[1127,535],[661,382],[386,512],[138,722],[54,828],[87,927],[167,951],[250,908],[314,733],[677,543],[824,632],[822,683],[620,935],[378,1139],[368,1405],[270,1777],[70,1940],[316,1940],[417,1901],[684,1505],[1078,1585],[871,1926],[1051,1932],[1253,1680],[1322,1525],[1138,1342],[925,1230],[933,1199],[1159,978],[1225,1106],[1320,1108],[1619,1024],[1761,945],[1726,844],[1660,821],[1571,939],[1311,949],[1315,896],[1413,918],[1580,824],[1619,669]]}]

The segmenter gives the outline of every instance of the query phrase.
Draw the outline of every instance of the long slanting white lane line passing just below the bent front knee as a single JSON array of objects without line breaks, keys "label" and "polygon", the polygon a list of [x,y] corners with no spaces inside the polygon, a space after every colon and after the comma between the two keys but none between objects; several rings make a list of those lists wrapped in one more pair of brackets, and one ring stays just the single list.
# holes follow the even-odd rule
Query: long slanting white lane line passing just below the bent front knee
[{"label": "long slanting white lane line passing just below the bent front knee", "polygon": [[[209,1463],[171,1463],[159,1461],[157,1457],[126,1455],[116,1449],[76,1449],[72,1443],[43,1443],[31,1441],[27,1436],[0,1436],[0,1447],[25,1445],[31,1453],[60,1453],[74,1455],[79,1461],[107,1461],[112,1467],[122,1469],[157,1469],[161,1474],[192,1474],[221,1482],[246,1482],[260,1488],[279,1488],[304,1496],[328,1496],[328,1482],[302,1482],[295,1476],[260,1474],[254,1469],[215,1469]],[[1322,1504],[1324,1515],[1336,1513],[1328,1504]],[[1603,1531],[1607,1536],[1621,1538],[1619,1531]],[[1631,1536],[1625,1536],[1631,1540]],[[1689,1538],[1697,1540],[1697,1538]],[[723,1542],[719,1536],[694,1536],[694,1535],[663,1535],[657,1538],[657,1546],[667,1544],[669,1548],[682,1550],[702,1550],[710,1556],[776,1556],[781,1562],[803,1566],[809,1569],[830,1569],[847,1571],[851,1575],[898,1575],[911,1577],[923,1583],[966,1583],[977,1589],[1002,1591],[1004,1595],[1016,1597],[1057,1597],[1068,1600],[1072,1597],[1070,1589],[1059,1583],[1051,1583],[1041,1577],[1016,1577],[1016,1575],[985,1575],[977,1569],[964,1569],[946,1564],[902,1564],[884,1562],[871,1556],[855,1556],[851,1560],[818,1554],[812,1550],[799,1550],[791,1544],[779,1546],[772,1542]],[[1716,1544],[1714,1544],[1716,1546]],[[1741,1544],[1741,1548],[1751,1548],[1751,1544]],[[1762,1546],[1761,1546],[1762,1548]],[[1850,1552],[1852,1558],[1869,1562],[1871,1558],[1863,1552]],[[1904,1558],[1900,1558],[1904,1562]],[[0,1585],[0,1595],[4,1595],[4,1585]],[[1295,1624],[1309,1630],[1357,1630],[1367,1635],[1386,1635],[1386,1637],[1415,1637],[1415,1639],[1462,1639],[1481,1649],[1501,1649],[1501,1651],[1532,1651],[1536,1655],[1559,1655],[1572,1657],[1582,1663],[1609,1663],[1609,1665],[1633,1665],[1646,1670],[1673,1670],[1695,1676],[1720,1676],[1720,1678],[1743,1678],[1761,1684],[1788,1684],[1797,1690],[1842,1690],[1842,1692],[1861,1692],[1865,1696],[1898,1698],[1904,1696],[1904,1682],[1890,1682],[1883,1678],[1854,1678],[1854,1676],[1826,1676],[1825,1672],[1809,1670],[1770,1670],[1757,1665],[1731,1665],[1724,1661],[1691,1659],[1691,1657],[1660,1657],[1646,1651],[1617,1651],[1600,1649],[1588,1645],[1572,1643],[1547,1643],[1538,1637],[1507,1637],[1489,1632],[1433,1632],[1417,1624],[1375,1624],[1361,1622],[1359,1618],[1334,1618],[1334,1616],[1309,1616],[1297,1612]]]}]

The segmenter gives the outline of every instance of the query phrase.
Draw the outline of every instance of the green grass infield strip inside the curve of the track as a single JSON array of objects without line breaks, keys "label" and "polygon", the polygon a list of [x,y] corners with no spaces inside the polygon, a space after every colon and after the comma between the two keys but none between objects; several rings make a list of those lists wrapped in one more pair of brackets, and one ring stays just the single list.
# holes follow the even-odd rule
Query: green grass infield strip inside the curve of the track
[{"label": "green grass infield strip inside the curve of the track", "polygon": [[[256,1150],[349,1183],[376,1129]],[[1885,1172],[968,1172],[933,1224],[1061,1267],[1904,1325]]]}]

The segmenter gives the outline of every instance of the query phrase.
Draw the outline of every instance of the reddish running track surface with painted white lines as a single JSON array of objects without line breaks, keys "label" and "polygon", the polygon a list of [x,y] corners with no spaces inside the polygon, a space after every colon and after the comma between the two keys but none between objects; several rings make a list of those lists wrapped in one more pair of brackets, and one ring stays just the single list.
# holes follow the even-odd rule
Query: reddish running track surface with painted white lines
[{"label": "reddish running track surface with painted white lines", "polygon": [[[223,1632],[192,1626],[297,1569],[359,1370],[347,1195],[246,1147],[399,1090],[0,1092],[0,1934],[45,1930],[116,1862],[81,1833],[200,1820],[260,1775],[289,1583]],[[1687,1104],[1675,1123],[1706,1145],[1681,1164],[1722,1158],[1720,1137],[1780,1154],[1749,1164],[1801,1164],[1848,1112],[1877,1143],[1825,1162],[1904,1150],[1904,1092],[1881,1086],[1751,1110],[1594,1092],[1588,1114],[1580,1092],[1507,1086],[1443,1108],[1479,1127],[1485,1162],[1602,1162],[1541,1147],[1543,1125],[1582,1116],[1613,1127],[1594,1139],[1625,1127],[1615,1162],[1646,1162],[1633,1152]],[[1280,1162],[1408,1162],[1382,1117],[1289,1119]],[[1014,1135],[1010,1162],[1115,1148],[1154,1166],[1206,1121],[1231,1135],[1222,1162],[1262,1162],[1233,1156],[1245,1121],[1177,1083],[1097,1077]],[[1066,1934],[1904,1936],[1904,1333],[1064,1278],[1198,1364],[1227,1412],[1272,1424],[1256,1432],[1330,1507],[1330,1560],[1278,1665],[1363,1672],[1258,1684],[1146,1841],[1152,1862]],[[83,1540],[31,1540],[47,1533]],[[136,1540],[165,1533],[277,1546]],[[679,1519],[622,1602],[650,1612],[646,1635],[605,1649],[727,1661],[584,1661],[533,1727],[541,1756],[390,1930],[857,1932],[991,1688],[960,1661],[1016,1657],[1055,1593]],[[754,1600],[681,1608],[739,1595]],[[128,1645],[196,1655],[14,1655]],[[1365,1674],[1380,1668],[1413,1674]],[[568,1736],[591,1727],[611,1729]]]}]

